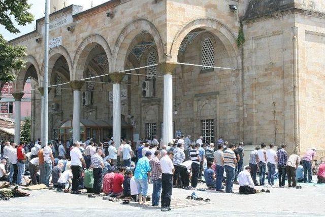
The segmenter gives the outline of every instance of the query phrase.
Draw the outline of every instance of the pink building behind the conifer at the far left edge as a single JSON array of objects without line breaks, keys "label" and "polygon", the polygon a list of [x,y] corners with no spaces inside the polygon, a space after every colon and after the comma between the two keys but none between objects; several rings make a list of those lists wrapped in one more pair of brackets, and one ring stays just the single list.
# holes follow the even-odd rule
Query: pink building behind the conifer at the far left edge
[{"label": "pink building behind the conifer at the far left edge", "polygon": [[[0,101],[0,115],[15,118],[15,99],[12,96],[12,84],[6,83],[1,90],[1,101]],[[30,117],[31,112],[31,85],[30,80],[27,79],[24,86],[24,96],[21,99],[21,118]]]}]

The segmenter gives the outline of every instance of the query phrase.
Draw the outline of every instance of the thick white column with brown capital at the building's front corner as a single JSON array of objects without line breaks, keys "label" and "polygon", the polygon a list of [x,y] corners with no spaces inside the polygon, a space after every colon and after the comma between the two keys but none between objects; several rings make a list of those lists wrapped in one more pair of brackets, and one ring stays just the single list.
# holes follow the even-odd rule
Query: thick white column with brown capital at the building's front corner
[{"label": "thick white column with brown capital at the building's front corner", "polygon": [[163,142],[173,142],[173,72],[177,63],[159,63],[158,69],[164,74],[164,131]]}]

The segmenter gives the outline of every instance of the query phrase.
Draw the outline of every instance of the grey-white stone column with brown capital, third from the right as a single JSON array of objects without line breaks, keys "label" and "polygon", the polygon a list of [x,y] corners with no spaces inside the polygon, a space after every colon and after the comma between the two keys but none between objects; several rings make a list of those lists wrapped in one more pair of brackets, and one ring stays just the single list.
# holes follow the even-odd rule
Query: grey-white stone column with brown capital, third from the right
[{"label": "grey-white stone column with brown capital, third from the right", "polygon": [[81,105],[81,87],[84,81],[71,81],[70,85],[73,88],[73,141],[80,141],[80,105]]}]

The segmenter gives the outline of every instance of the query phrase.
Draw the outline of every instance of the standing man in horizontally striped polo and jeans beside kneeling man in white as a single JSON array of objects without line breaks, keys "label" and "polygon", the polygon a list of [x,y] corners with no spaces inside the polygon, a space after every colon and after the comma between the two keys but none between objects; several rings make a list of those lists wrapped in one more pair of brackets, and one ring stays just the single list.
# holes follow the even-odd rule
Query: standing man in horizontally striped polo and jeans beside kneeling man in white
[{"label": "standing man in horizontally striped polo and jeans beside kneeling man in white", "polygon": [[229,147],[223,153],[224,170],[226,174],[226,185],[225,185],[226,193],[234,193],[233,184],[235,180],[235,168],[237,163],[234,149],[235,146],[233,144],[230,144]]}]

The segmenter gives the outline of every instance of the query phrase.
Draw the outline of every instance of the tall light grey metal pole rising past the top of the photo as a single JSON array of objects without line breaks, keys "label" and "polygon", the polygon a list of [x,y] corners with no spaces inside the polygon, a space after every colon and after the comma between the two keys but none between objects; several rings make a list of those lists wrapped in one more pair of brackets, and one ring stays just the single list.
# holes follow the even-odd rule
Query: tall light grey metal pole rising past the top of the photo
[{"label": "tall light grey metal pole rising past the top of the photo", "polygon": [[42,134],[43,140],[42,144],[47,145],[48,143],[48,130],[49,130],[49,12],[50,12],[50,0],[45,0],[45,36],[44,36],[44,116]]}]

